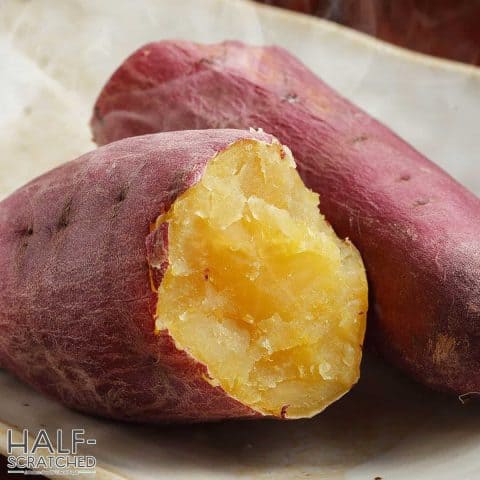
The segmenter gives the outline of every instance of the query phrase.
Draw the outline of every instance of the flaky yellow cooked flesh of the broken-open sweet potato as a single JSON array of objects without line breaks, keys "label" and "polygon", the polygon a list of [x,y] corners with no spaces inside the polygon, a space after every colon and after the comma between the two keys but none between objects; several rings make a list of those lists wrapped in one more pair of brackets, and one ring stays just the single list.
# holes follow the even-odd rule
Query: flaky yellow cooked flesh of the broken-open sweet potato
[{"label": "flaky yellow cooked flesh of the broken-open sweet potato", "polygon": [[367,283],[278,143],[242,140],[162,215],[156,330],[257,412],[309,417],[357,381]]}]

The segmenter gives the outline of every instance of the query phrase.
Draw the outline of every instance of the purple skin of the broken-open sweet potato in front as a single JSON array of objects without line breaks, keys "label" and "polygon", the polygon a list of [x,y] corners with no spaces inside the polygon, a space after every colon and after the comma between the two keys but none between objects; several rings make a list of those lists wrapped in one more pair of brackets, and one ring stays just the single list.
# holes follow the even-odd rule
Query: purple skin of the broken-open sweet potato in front
[{"label": "purple skin of the broken-open sweet potato in front", "polygon": [[[204,365],[154,333],[151,275],[165,268],[156,218],[239,130],[126,139],[0,202],[0,364],[64,404],[129,421],[255,417]],[[148,257],[148,261],[147,261]],[[151,264],[149,266],[149,263]],[[153,272],[152,272],[153,270]]]}]

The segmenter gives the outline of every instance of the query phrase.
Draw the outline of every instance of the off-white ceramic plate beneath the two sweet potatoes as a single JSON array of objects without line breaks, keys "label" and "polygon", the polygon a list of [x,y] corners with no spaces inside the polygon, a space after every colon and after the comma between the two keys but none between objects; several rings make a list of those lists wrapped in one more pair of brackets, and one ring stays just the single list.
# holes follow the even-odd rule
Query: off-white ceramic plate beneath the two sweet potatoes
[{"label": "off-white ceramic plate beneath the two sweet potatoes", "polygon": [[[171,37],[288,48],[480,193],[474,67],[237,0],[3,0],[1,8],[0,197],[91,149],[88,120],[102,84],[136,47]],[[0,451],[7,425],[83,427],[97,439],[88,452],[99,479],[480,478],[478,406],[424,390],[373,361],[359,386],[325,413],[288,423],[131,426],[70,412],[6,373],[0,389]]]}]

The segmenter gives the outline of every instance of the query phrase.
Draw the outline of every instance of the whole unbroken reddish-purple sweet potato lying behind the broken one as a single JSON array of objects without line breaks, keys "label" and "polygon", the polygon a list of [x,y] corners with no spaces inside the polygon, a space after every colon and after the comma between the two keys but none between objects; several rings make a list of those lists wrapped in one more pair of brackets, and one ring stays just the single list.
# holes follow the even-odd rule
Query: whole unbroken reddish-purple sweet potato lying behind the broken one
[{"label": "whole unbroken reddish-purple sweet potato lying behind the broken one", "polygon": [[362,254],[374,345],[426,385],[480,391],[479,199],[277,47],[146,45],[92,119],[100,144],[218,127],[261,127],[292,149],[322,212]]}]

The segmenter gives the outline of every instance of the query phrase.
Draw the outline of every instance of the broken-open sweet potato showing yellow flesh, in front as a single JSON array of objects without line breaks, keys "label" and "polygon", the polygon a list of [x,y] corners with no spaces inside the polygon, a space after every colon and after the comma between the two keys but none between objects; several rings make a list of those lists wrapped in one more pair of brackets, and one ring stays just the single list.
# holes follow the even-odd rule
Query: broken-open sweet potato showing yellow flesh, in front
[{"label": "broken-open sweet potato showing yellow flesh, in front", "polygon": [[308,417],[359,375],[367,282],[291,153],[126,139],[0,203],[0,363],[130,421]]}]

